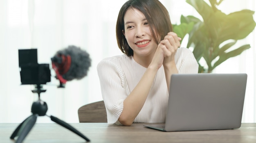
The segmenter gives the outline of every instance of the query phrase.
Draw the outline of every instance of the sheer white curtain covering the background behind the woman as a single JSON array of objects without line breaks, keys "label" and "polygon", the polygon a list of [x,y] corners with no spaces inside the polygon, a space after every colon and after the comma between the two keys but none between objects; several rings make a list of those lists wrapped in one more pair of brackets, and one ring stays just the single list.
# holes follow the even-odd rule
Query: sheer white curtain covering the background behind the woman
[{"label": "sheer white curtain covering the background behind the woman", "polygon": [[[168,9],[172,23],[180,15],[198,15],[185,0],[160,0]],[[206,0],[207,1],[207,0]],[[57,88],[58,80],[44,85],[47,91],[41,99],[47,102],[47,115],[66,122],[79,122],[80,106],[102,100],[97,63],[101,59],[122,54],[117,47],[115,24],[126,0],[1,0],[0,1],[0,122],[20,123],[31,115],[31,104],[38,96],[31,92],[33,85],[20,85],[18,49],[37,48],[38,63],[50,58],[68,45],[86,50],[92,58],[88,75],[82,80],[67,82]],[[220,9],[230,13],[241,9],[256,10],[254,0],[225,0]],[[255,15],[254,15],[255,16]],[[238,31],[239,34],[239,31]],[[247,73],[247,93],[243,122],[256,121],[256,34],[253,32],[241,43],[252,48],[220,65],[215,73]],[[38,117],[37,122],[52,122]]]}]

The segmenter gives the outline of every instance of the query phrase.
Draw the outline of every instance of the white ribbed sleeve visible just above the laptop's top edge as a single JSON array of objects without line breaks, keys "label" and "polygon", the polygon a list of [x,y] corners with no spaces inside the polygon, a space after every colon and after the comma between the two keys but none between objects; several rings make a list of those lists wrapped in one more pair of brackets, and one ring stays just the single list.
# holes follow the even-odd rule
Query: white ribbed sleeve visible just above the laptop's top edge
[{"label": "white ribbed sleeve visible just above the laptop's top edge", "polygon": [[179,74],[197,74],[198,62],[191,50],[179,48],[176,52],[176,66]]}]

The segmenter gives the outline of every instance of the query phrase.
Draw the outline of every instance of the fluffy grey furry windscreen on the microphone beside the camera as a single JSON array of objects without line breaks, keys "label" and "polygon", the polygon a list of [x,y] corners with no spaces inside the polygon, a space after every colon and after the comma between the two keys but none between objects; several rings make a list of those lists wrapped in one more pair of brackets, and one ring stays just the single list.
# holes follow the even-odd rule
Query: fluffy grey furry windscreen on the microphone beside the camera
[{"label": "fluffy grey furry windscreen on the microphone beside the camera", "polygon": [[[67,72],[62,74],[62,77],[65,80],[80,80],[81,78],[87,76],[88,69],[91,66],[91,58],[90,55],[85,50],[82,50],[80,47],[70,45],[63,50],[59,50],[58,52],[56,52],[54,57],[71,57],[71,63],[69,63],[68,65],[69,68],[66,69]],[[67,64],[65,61],[63,61],[64,60],[62,58],[62,64]]]}]

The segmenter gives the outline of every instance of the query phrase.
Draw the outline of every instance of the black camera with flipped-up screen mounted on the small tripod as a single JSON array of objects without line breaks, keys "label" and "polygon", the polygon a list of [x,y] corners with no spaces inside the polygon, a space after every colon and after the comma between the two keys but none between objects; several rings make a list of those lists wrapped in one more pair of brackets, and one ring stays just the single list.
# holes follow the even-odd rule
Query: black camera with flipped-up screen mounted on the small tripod
[{"label": "black camera with flipped-up screen mounted on the small tripod", "polygon": [[51,81],[49,64],[37,62],[37,49],[19,50],[19,67],[22,85],[45,85]]}]

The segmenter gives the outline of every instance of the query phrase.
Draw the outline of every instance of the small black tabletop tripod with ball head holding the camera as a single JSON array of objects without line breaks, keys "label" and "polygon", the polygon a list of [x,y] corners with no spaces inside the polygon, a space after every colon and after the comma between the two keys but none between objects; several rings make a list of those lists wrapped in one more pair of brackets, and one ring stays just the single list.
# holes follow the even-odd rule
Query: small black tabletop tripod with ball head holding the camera
[{"label": "small black tabletop tripod with ball head holding the camera", "polygon": [[[14,130],[14,132],[11,134],[10,139],[14,139],[15,137],[18,137],[16,140],[16,143],[21,143],[29,131],[33,128],[33,126],[36,123],[36,119],[38,116],[45,116],[47,112],[47,104],[46,102],[40,100],[40,93],[45,92],[46,90],[41,89],[41,85],[36,85],[36,90],[32,90],[33,93],[38,93],[38,101],[33,102],[31,107],[31,113],[27,119],[25,119],[17,128]],[[47,115],[46,115],[47,116]],[[64,128],[67,128],[68,130],[74,132],[75,134],[79,135],[86,141],[90,141],[87,137],[85,137],[81,132],[76,130],[74,127],[67,124],[65,121],[62,121],[61,119],[58,119],[54,116],[48,116],[51,118],[52,121],[56,122],[57,124],[63,126]]]}]

